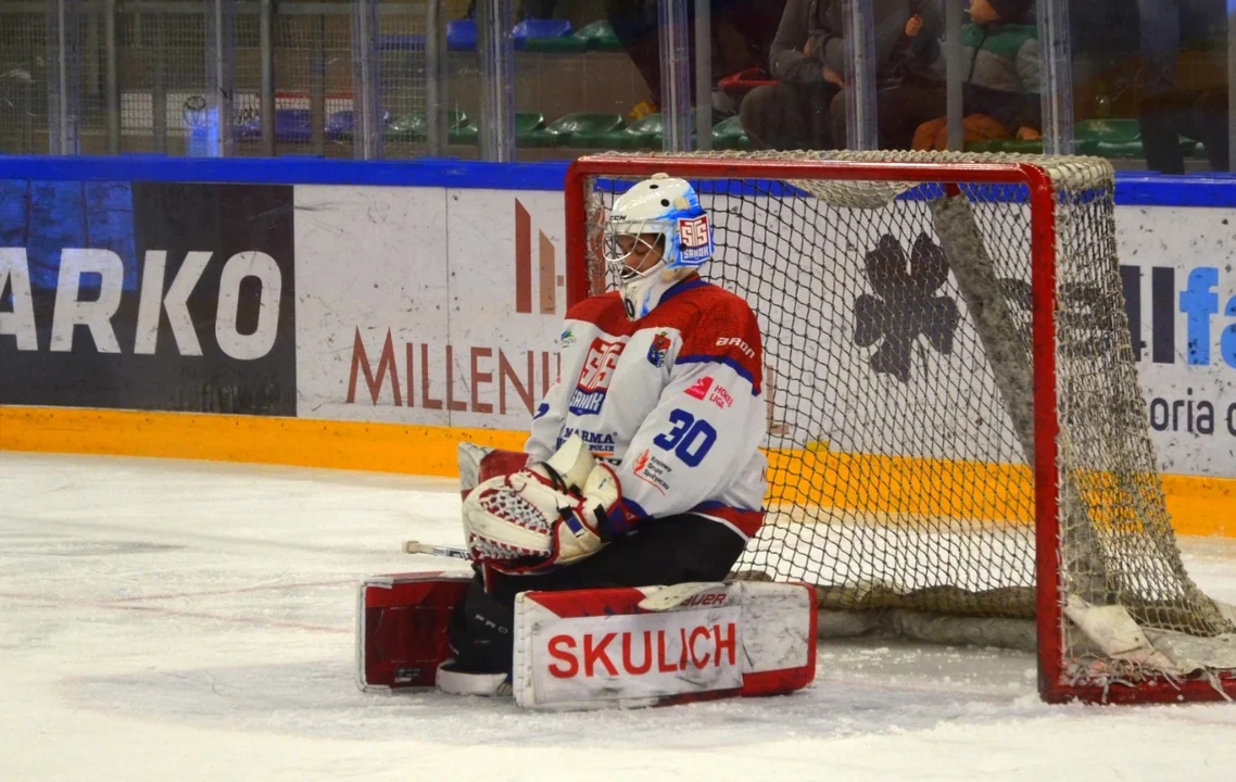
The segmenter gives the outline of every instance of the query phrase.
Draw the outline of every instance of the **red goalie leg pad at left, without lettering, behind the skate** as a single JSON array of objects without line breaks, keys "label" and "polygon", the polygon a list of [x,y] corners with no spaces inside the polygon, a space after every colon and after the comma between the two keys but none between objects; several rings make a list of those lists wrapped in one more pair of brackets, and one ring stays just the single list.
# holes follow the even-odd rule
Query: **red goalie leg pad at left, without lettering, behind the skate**
[{"label": "red goalie leg pad at left, without lettering, behind the skate", "polygon": [[434,687],[450,657],[446,628],[470,573],[371,576],[356,616],[356,683],[363,691]]}]

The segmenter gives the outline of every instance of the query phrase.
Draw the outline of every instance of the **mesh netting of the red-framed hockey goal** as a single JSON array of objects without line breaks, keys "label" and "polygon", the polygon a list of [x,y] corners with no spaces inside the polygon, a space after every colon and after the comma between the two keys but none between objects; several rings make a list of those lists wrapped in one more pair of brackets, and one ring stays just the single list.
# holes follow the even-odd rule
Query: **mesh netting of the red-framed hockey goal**
[{"label": "mesh netting of the red-framed hockey goal", "polygon": [[[1105,161],[890,152],[707,159],[734,157],[1046,169],[1057,196],[1062,593],[1124,607],[1152,637],[1232,640],[1224,637],[1231,615],[1185,573],[1168,518]],[[691,182],[711,214],[716,253],[705,277],[744,296],[764,335],[768,514],[735,572],[817,584],[822,610],[1033,618],[1027,187],[963,183],[963,198],[948,198],[932,182],[701,180],[690,166],[666,170]],[[586,182],[592,293],[611,284],[597,237],[633,179]],[[1084,676],[1107,656],[1064,624],[1067,663]],[[1133,657],[1119,676],[1153,662]]]}]

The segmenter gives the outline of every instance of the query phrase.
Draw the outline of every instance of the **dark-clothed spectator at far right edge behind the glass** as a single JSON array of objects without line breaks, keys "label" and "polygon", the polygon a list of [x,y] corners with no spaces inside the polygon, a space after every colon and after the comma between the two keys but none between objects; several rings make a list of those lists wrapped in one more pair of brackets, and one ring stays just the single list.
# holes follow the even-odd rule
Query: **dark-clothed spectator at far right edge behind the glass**
[{"label": "dark-clothed spectator at far right edge behind the glass", "polygon": [[1226,26],[1236,25],[1236,14],[1225,20],[1222,0],[1137,0],[1137,10],[1142,31],[1138,119],[1147,167],[1183,174],[1183,135],[1205,146],[1213,170],[1227,170],[1231,161],[1227,84],[1182,88],[1177,59],[1183,37],[1213,40],[1222,51]]}]

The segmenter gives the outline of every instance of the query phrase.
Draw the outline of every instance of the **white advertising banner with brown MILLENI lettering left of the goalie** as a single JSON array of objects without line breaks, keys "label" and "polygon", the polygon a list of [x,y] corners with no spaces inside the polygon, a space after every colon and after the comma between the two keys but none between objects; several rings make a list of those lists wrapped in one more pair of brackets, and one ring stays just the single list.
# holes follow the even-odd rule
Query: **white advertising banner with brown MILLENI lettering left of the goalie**
[{"label": "white advertising banner with brown MILLENI lettering left of the goalie", "polygon": [[297,208],[300,416],[528,425],[557,377],[561,196],[299,187]]}]

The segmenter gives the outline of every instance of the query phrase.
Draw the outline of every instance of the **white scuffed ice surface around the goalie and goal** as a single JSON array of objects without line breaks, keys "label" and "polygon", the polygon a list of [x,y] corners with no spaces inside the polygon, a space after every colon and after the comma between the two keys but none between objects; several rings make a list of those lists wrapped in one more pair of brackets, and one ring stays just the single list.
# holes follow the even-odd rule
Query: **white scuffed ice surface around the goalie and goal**
[{"label": "white scuffed ice surface around the goalie and goal", "polygon": [[[785,698],[530,714],[353,683],[357,582],[452,481],[0,452],[0,780],[1222,780],[1236,705],[1048,707],[1031,656],[821,649]],[[1236,541],[1183,539],[1236,602]]]}]

